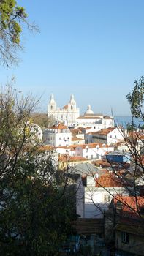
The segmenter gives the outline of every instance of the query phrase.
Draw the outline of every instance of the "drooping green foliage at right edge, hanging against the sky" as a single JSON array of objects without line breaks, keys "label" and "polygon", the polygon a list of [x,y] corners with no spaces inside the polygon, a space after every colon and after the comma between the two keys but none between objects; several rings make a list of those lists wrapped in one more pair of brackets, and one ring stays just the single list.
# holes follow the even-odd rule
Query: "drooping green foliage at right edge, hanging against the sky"
[{"label": "drooping green foliage at right edge, hanging against the sky", "polygon": [[132,93],[127,94],[127,99],[131,107],[132,117],[142,118],[143,116],[143,102],[144,102],[144,77],[134,82],[134,89]]}]

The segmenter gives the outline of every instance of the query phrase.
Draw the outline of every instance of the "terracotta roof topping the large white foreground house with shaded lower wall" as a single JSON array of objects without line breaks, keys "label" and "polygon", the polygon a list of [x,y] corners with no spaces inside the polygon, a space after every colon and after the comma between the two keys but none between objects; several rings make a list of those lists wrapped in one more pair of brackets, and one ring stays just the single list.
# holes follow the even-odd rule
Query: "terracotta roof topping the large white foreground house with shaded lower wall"
[{"label": "terracotta roof topping the large white foreground house with shaded lower wall", "polygon": [[113,173],[108,173],[96,178],[95,187],[125,187],[124,183],[121,182],[121,178],[115,177]]}]

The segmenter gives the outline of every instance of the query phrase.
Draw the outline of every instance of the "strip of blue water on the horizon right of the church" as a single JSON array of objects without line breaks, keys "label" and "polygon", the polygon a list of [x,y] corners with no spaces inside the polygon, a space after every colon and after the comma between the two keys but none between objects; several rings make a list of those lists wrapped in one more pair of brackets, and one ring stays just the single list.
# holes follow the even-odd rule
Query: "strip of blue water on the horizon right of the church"
[{"label": "strip of blue water on the horizon right of the church", "polygon": [[[126,124],[132,123],[132,116],[115,116],[115,125],[122,125],[124,128],[126,127]],[[134,118],[134,125],[137,127],[140,125],[142,126],[144,122],[139,118]]]}]

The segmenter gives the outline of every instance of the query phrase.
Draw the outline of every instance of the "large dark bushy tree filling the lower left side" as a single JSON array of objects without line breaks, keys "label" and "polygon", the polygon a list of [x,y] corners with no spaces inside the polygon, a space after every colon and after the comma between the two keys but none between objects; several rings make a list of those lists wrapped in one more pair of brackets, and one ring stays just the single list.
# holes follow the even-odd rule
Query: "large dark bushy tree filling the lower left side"
[{"label": "large dark bushy tree filling the lower left side", "polygon": [[43,151],[31,111],[10,87],[0,94],[0,254],[58,255],[75,218],[68,178]]}]

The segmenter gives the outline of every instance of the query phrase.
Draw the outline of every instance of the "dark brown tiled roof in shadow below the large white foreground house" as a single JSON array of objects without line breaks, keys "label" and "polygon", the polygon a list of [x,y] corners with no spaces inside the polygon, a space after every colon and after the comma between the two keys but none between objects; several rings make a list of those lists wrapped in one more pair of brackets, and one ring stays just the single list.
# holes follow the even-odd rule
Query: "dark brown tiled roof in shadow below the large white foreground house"
[{"label": "dark brown tiled roof in shadow below the large white foreground house", "polygon": [[104,233],[103,219],[77,219],[72,222],[78,234],[102,234]]}]

